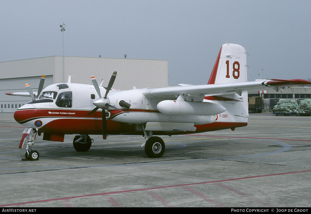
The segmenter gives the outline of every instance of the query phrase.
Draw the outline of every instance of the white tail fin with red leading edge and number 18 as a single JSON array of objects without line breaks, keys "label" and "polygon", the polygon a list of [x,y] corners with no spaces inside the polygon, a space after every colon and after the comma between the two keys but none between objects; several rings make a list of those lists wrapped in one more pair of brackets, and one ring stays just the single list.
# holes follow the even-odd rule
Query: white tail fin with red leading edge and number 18
[{"label": "white tail fin with red leading edge and number 18", "polygon": [[246,51],[238,44],[223,44],[207,84],[246,82]]}]

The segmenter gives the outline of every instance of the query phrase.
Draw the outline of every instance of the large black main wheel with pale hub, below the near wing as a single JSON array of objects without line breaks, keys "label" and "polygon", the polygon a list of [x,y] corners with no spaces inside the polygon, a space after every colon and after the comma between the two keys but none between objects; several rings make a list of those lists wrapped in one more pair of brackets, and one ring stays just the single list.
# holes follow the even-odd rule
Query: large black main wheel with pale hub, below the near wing
[{"label": "large black main wheel with pale hub, below the near wing", "polygon": [[157,136],[150,137],[145,144],[145,153],[148,157],[161,157],[165,151],[164,141]]}]

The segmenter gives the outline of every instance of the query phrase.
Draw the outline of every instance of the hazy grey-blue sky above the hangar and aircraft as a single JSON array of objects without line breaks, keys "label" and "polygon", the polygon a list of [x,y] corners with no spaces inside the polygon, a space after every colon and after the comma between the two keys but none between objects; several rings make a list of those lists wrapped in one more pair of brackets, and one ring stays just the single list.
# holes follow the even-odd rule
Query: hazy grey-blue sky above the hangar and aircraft
[{"label": "hazy grey-blue sky above the hangar and aircraft", "polygon": [[227,41],[249,54],[248,81],[311,78],[310,0],[0,0],[0,12],[0,62],[62,56],[64,22],[65,56],[168,60],[169,84],[206,84]]}]

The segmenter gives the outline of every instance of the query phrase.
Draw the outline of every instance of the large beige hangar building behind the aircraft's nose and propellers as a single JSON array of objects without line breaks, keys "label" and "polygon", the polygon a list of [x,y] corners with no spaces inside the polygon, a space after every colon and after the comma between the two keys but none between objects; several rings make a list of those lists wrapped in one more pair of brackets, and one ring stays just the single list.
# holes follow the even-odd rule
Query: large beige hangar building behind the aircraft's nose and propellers
[{"label": "large beige hangar building behind the aircraft's nose and propellers", "polygon": [[[64,70],[64,72],[63,72]],[[14,112],[31,100],[29,97],[8,96],[5,93],[27,92],[25,84],[38,90],[39,81],[45,75],[44,87],[68,81],[91,84],[91,76],[102,86],[107,86],[110,77],[117,71],[113,88],[129,90],[136,88],[156,88],[168,86],[168,61],[128,58],[95,58],[51,56],[9,62],[0,62],[0,109]]]}]

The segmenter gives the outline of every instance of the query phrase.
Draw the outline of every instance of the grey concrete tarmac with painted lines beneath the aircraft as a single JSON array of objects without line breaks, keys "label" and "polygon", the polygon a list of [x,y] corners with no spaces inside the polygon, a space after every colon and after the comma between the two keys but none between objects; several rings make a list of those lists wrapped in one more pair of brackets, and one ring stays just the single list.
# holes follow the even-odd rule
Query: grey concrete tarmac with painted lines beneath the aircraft
[{"label": "grey concrete tarmac with painted lines beneath the aircraft", "polygon": [[101,136],[87,152],[36,137],[22,161],[24,128],[0,114],[0,207],[310,207],[311,117],[249,114],[248,126],[161,136],[148,158],[141,136]]}]

